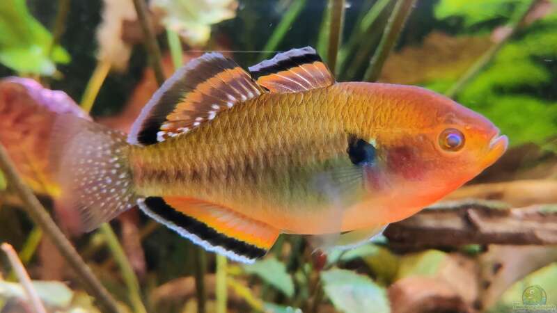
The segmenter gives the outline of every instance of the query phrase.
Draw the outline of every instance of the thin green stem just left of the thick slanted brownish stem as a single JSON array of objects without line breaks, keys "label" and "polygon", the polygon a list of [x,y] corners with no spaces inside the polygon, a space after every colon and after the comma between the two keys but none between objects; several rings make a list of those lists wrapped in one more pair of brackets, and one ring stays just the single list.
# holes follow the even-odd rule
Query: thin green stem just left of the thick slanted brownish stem
[{"label": "thin green stem just left of the thick slanted brownish stem", "polygon": [[366,42],[372,42],[369,38],[372,33],[372,26],[375,24],[377,17],[379,17],[390,1],[391,0],[378,0],[376,3],[373,3],[370,10],[368,10],[368,12],[361,17],[360,23],[354,26],[354,31],[352,31],[348,42],[340,48],[340,51],[338,51],[338,72],[340,72],[340,70],[343,70],[344,72],[348,56],[352,56],[352,54],[354,54],[356,46],[361,45],[364,40],[366,40]]}]

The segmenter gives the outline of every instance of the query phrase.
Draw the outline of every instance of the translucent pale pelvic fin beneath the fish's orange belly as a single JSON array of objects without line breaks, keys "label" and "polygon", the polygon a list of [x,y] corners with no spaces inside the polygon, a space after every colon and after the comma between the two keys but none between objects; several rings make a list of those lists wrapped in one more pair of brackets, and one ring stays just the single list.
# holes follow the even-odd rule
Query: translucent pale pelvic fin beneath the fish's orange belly
[{"label": "translucent pale pelvic fin beneath the fish's orange belly", "polygon": [[323,234],[309,236],[311,245],[318,250],[341,249],[347,250],[361,246],[372,240],[375,236],[382,234],[387,225],[379,225],[361,230],[352,230],[340,234]]}]

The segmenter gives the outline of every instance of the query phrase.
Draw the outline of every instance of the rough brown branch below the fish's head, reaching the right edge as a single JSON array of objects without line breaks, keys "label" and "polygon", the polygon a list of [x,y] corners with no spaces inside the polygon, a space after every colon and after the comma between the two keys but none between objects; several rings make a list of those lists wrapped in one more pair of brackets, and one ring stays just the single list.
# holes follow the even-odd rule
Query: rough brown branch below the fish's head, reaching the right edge
[{"label": "rough brown branch below the fish's head, reaching the right edge", "polygon": [[556,244],[557,210],[541,206],[504,209],[477,202],[436,207],[389,225],[384,235],[393,246],[413,248]]}]

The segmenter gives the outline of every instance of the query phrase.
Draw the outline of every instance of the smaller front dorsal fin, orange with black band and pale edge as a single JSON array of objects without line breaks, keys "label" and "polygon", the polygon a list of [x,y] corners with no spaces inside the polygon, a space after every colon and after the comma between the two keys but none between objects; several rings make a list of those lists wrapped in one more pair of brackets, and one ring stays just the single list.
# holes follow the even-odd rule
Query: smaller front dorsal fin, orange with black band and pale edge
[{"label": "smaller front dorsal fin, orange with black band and pale edge", "polygon": [[273,93],[297,93],[331,86],[335,79],[312,47],[292,49],[249,67],[258,85]]}]

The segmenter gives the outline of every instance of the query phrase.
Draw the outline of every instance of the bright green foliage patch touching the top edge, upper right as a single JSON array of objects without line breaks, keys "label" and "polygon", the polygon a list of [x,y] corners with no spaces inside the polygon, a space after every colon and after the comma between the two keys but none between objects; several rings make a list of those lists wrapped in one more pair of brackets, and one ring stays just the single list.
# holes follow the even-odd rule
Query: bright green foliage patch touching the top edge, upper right
[{"label": "bright green foliage patch touching the top edge, upper right", "polygon": [[495,19],[508,19],[519,5],[531,0],[442,0],[435,6],[435,17],[461,17],[464,29]]}]

